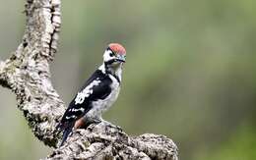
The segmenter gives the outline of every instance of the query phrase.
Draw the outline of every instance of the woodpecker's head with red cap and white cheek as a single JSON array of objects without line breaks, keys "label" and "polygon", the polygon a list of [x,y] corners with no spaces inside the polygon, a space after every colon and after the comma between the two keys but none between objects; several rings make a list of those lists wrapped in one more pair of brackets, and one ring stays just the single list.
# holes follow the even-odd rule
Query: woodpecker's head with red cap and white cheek
[{"label": "woodpecker's head with red cap and white cheek", "polygon": [[118,67],[125,63],[126,51],[121,44],[108,44],[104,54],[103,61],[108,67]]}]

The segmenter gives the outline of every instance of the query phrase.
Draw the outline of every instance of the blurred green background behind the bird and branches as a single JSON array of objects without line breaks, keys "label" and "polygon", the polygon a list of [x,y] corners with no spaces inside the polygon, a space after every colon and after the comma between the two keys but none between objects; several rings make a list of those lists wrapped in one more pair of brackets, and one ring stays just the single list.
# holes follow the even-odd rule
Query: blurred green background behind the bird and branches
[{"label": "blurred green background behind the bird and branches", "polygon": [[[0,0],[0,57],[21,42],[24,0]],[[51,64],[66,104],[101,64],[109,42],[127,50],[122,90],[104,115],[126,133],[160,133],[181,160],[256,159],[255,0],[62,0]],[[34,138],[0,88],[0,159],[38,159]]]}]

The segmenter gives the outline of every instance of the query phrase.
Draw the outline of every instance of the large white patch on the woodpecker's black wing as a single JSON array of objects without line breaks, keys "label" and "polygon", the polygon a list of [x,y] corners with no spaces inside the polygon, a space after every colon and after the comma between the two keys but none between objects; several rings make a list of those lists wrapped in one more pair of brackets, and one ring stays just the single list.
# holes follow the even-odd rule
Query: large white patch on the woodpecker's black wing
[{"label": "large white patch on the woodpecker's black wing", "polygon": [[99,83],[100,80],[94,80],[86,88],[84,88],[84,90],[78,92],[78,95],[75,99],[75,104],[82,104],[85,101],[86,97],[89,97],[91,94],[93,94],[93,87],[98,85]]}]

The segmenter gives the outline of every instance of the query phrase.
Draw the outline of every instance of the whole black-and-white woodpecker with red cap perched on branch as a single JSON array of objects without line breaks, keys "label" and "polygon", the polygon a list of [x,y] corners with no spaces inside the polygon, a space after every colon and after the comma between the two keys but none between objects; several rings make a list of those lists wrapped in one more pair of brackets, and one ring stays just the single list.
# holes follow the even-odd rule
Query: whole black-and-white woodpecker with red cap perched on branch
[{"label": "whole black-and-white woodpecker with red cap perched on branch", "polygon": [[103,64],[79,90],[65,111],[57,130],[64,131],[60,145],[74,129],[102,122],[101,114],[117,99],[126,51],[111,43],[103,54]]}]

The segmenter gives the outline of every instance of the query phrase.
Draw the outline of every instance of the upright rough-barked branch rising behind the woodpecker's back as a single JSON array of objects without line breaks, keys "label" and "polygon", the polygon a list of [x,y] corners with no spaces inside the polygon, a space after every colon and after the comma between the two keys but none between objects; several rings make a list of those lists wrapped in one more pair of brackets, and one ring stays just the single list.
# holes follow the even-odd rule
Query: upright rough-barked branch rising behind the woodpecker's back
[{"label": "upright rough-barked branch rising behind the woodpecker's back", "polygon": [[15,92],[32,132],[54,146],[56,122],[64,105],[50,81],[49,61],[57,49],[60,27],[59,0],[28,0],[27,26],[22,43],[0,65],[0,83]]}]

